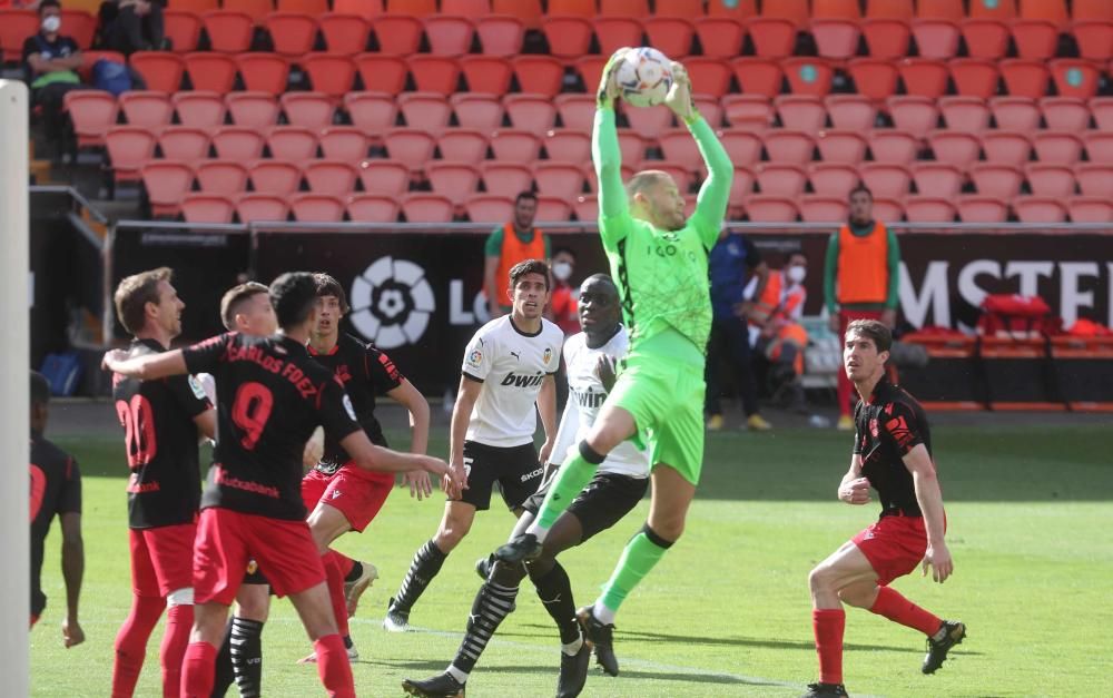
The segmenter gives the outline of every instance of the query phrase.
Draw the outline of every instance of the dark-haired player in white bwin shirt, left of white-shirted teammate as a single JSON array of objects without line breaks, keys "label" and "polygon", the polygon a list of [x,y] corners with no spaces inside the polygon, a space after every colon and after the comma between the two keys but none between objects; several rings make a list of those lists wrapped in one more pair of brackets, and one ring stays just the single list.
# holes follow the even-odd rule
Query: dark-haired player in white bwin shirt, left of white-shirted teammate
[{"label": "dark-haired player in white bwin shirt, left of white-shirted teammate", "polygon": [[[491,507],[499,483],[514,515],[538,490],[556,436],[556,386],[564,333],[541,316],[549,303],[549,265],[526,259],[510,269],[510,315],[480,327],[464,350],[456,405],[452,411],[450,456],[466,474],[462,492],[450,492],[436,534],[422,545],[383,627],[408,629],[410,610],[441,571],[444,559],[467,535],[476,511]],[[536,404],[536,411],[534,411]],[[533,445],[538,413],[544,426],[541,452]]]}]

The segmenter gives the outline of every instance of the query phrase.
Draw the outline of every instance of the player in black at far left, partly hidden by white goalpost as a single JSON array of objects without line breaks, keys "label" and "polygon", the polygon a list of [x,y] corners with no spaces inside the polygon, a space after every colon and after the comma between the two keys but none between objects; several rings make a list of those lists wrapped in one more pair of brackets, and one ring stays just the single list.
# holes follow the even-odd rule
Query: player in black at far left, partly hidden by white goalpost
[{"label": "player in black at far left, partly hidden by white goalpost", "polygon": [[58,517],[62,529],[62,578],[66,580],[66,617],[62,641],[66,647],[85,642],[78,622],[78,599],[85,573],[85,545],[81,541],[81,472],[71,455],[47,441],[47,404],[50,385],[41,373],[31,372],[31,626],[47,607],[39,576],[42,573],[42,545],[50,523]]}]

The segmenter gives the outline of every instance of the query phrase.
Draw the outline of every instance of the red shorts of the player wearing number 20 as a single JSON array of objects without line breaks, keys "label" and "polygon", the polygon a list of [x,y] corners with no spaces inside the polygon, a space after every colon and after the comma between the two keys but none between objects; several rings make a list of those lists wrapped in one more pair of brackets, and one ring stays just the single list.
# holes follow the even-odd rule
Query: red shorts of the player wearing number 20
[{"label": "red shorts of the player wearing number 20", "polygon": [[137,597],[166,598],[194,586],[190,560],[196,532],[194,523],[129,529],[131,590]]}]

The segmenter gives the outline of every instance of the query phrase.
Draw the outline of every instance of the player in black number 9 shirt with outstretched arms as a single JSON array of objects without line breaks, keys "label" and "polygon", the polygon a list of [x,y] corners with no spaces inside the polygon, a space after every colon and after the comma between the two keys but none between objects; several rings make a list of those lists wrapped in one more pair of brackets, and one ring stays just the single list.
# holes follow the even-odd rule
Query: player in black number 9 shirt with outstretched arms
[{"label": "player in black number 9 shirt with outstretched arms", "polygon": [[[211,692],[228,606],[250,559],[266,571],[275,592],[289,596],[297,608],[329,695],[355,695],[301,498],[302,452],[317,424],[361,468],[449,473],[439,459],[373,445],[339,381],[309,357],[305,343],[317,315],[311,274],[283,274],[270,285],[270,301],[280,326],[272,337],[228,333],[158,355],[105,355],[109,370],[131,377],[207,372],[216,380],[220,438],[201,497],[194,551],[198,606],[181,679],[181,694],[189,698]],[[450,475],[450,484],[463,483]]]}]

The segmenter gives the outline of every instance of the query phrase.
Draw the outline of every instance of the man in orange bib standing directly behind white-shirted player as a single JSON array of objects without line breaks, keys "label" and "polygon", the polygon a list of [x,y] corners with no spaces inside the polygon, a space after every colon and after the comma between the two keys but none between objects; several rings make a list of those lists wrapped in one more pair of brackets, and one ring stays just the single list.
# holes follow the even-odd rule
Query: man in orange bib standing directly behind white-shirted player
[{"label": "man in orange bib standing directly behind white-shirted player", "polygon": [[492,319],[510,312],[506,279],[510,269],[526,259],[550,259],[549,236],[533,227],[538,215],[538,196],[522,191],[514,199],[514,220],[495,228],[487,236],[483,265],[483,293]]}]

